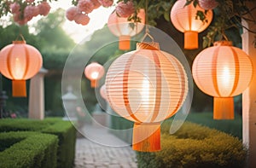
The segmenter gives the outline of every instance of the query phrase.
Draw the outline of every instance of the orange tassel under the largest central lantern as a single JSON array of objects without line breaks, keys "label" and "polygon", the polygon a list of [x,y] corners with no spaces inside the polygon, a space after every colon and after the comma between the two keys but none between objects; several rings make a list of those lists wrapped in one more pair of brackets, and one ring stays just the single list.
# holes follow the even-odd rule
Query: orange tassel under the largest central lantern
[{"label": "orange tassel under the largest central lantern", "polygon": [[133,125],[132,149],[141,152],[160,151],[160,123]]}]

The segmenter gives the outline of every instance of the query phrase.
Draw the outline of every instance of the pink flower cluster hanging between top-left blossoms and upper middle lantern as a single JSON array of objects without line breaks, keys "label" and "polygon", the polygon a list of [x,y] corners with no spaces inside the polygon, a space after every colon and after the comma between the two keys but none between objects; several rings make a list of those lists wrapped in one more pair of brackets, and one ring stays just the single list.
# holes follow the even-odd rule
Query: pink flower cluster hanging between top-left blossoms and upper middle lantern
[{"label": "pink flower cluster hanging between top-left blossoms and upper middle lantern", "polygon": [[67,9],[67,20],[74,20],[77,24],[85,26],[90,21],[88,14],[100,6],[105,8],[112,6],[113,0],[78,0],[75,1],[75,4],[75,6]]}]

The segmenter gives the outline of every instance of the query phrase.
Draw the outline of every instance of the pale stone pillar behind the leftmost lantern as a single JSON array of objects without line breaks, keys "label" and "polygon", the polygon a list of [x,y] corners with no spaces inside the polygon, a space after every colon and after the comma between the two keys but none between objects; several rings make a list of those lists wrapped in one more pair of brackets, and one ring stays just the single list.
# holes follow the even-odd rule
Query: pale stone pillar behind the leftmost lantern
[{"label": "pale stone pillar behind the leftmost lantern", "polygon": [[44,119],[44,75],[48,71],[42,67],[30,80],[28,118]]}]

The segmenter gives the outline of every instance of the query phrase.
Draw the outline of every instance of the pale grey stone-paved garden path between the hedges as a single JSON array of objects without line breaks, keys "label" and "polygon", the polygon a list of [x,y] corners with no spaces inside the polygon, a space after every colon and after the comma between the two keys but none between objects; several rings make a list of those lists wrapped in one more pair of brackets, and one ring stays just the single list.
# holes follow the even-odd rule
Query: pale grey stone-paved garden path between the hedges
[{"label": "pale grey stone-paved garden path between the hedges", "polygon": [[[88,128],[88,126],[87,126]],[[125,143],[106,130],[89,126],[89,130],[105,141]],[[108,147],[85,137],[77,138],[74,168],[136,168],[137,159],[131,146]]]}]

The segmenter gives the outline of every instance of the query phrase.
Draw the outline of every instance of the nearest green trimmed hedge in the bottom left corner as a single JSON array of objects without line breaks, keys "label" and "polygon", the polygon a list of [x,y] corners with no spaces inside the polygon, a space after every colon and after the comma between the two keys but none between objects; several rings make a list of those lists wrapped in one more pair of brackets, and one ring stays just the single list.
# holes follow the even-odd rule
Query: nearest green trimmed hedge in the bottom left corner
[{"label": "nearest green trimmed hedge in the bottom left corner", "polygon": [[[38,132],[3,132],[0,168],[56,167],[58,138]],[[12,146],[9,147],[9,142]]]}]

